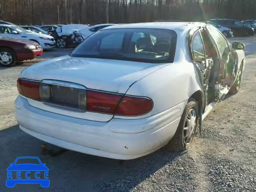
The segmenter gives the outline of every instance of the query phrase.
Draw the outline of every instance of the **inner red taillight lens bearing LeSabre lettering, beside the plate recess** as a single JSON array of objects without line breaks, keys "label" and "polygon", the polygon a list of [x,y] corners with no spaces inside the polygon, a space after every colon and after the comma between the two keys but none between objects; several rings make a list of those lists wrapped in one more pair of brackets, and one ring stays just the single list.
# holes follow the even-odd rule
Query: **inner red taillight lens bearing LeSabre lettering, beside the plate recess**
[{"label": "inner red taillight lens bearing LeSabre lettering, beside the plate recess", "polygon": [[122,95],[106,92],[86,91],[86,109],[94,112],[114,114]]}]

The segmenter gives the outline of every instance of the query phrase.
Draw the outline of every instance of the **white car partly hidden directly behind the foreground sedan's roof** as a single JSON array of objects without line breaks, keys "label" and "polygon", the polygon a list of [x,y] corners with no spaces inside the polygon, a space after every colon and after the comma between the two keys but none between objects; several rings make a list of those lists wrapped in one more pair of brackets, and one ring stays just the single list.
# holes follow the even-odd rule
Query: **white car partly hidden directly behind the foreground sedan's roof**
[{"label": "white car partly hidden directly behind the foreground sedan's roof", "polygon": [[91,27],[84,28],[82,30],[75,31],[75,32],[73,32],[72,39],[74,40],[75,43],[79,44],[85,38],[90,36],[91,34],[94,34],[98,30],[103,29],[103,28],[108,27],[108,26],[112,26],[112,25],[114,25],[114,24],[98,24],[98,25],[94,25],[94,26],[91,26]]}]

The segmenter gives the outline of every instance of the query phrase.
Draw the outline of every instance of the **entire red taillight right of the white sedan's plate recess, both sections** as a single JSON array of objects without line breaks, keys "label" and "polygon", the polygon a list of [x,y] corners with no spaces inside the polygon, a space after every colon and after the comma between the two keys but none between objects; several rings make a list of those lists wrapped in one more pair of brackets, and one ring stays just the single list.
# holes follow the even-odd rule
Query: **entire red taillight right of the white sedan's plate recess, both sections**
[{"label": "entire red taillight right of the white sedan's plate recess, both sections", "polygon": [[87,90],[86,95],[86,109],[92,112],[138,116],[150,112],[153,108],[152,100],[146,97],[123,96],[91,90]]}]

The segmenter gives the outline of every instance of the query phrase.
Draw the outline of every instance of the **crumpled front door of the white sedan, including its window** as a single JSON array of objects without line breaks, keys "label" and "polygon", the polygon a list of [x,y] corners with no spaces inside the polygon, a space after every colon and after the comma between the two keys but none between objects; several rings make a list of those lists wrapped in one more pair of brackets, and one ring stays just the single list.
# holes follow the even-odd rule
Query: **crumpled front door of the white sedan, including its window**
[{"label": "crumpled front door of the white sedan, including its window", "polygon": [[218,84],[223,88],[229,88],[234,83],[238,70],[237,53],[230,49],[228,41],[222,33],[211,26],[207,26],[206,29],[218,49],[220,62]]}]

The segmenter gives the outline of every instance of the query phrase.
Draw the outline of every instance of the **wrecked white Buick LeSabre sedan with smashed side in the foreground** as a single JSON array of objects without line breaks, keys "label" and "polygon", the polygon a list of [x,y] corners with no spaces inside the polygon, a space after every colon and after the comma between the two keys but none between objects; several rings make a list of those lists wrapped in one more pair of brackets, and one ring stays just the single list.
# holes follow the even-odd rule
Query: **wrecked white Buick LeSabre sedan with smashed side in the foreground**
[{"label": "wrecked white Buick LeSabre sedan with smashed side in the foreground", "polygon": [[239,90],[243,49],[202,23],[111,26],[23,70],[16,120],[40,140],[107,158],[185,150],[213,106]]}]

